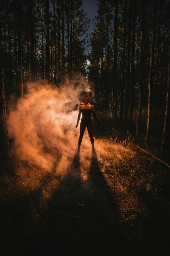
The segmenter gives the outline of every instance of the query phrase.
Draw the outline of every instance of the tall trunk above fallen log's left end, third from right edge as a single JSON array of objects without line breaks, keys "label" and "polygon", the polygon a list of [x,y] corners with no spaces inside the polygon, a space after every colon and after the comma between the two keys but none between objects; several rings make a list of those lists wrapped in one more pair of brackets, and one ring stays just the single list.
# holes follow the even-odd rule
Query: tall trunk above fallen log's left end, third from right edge
[{"label": "tall trunk above fallen log's left end, third from right edge", "polygon": [[138,112],[136,120],[136,135],[140,134],[140,122],[142,111],[142,88],[143,88],[143,53],[145,40],[145,0],[141,1],[142,5],[142,22],[141,22],[141,37],[140,37],[140,55],[139,55],[139,82],[138,82]]}]

